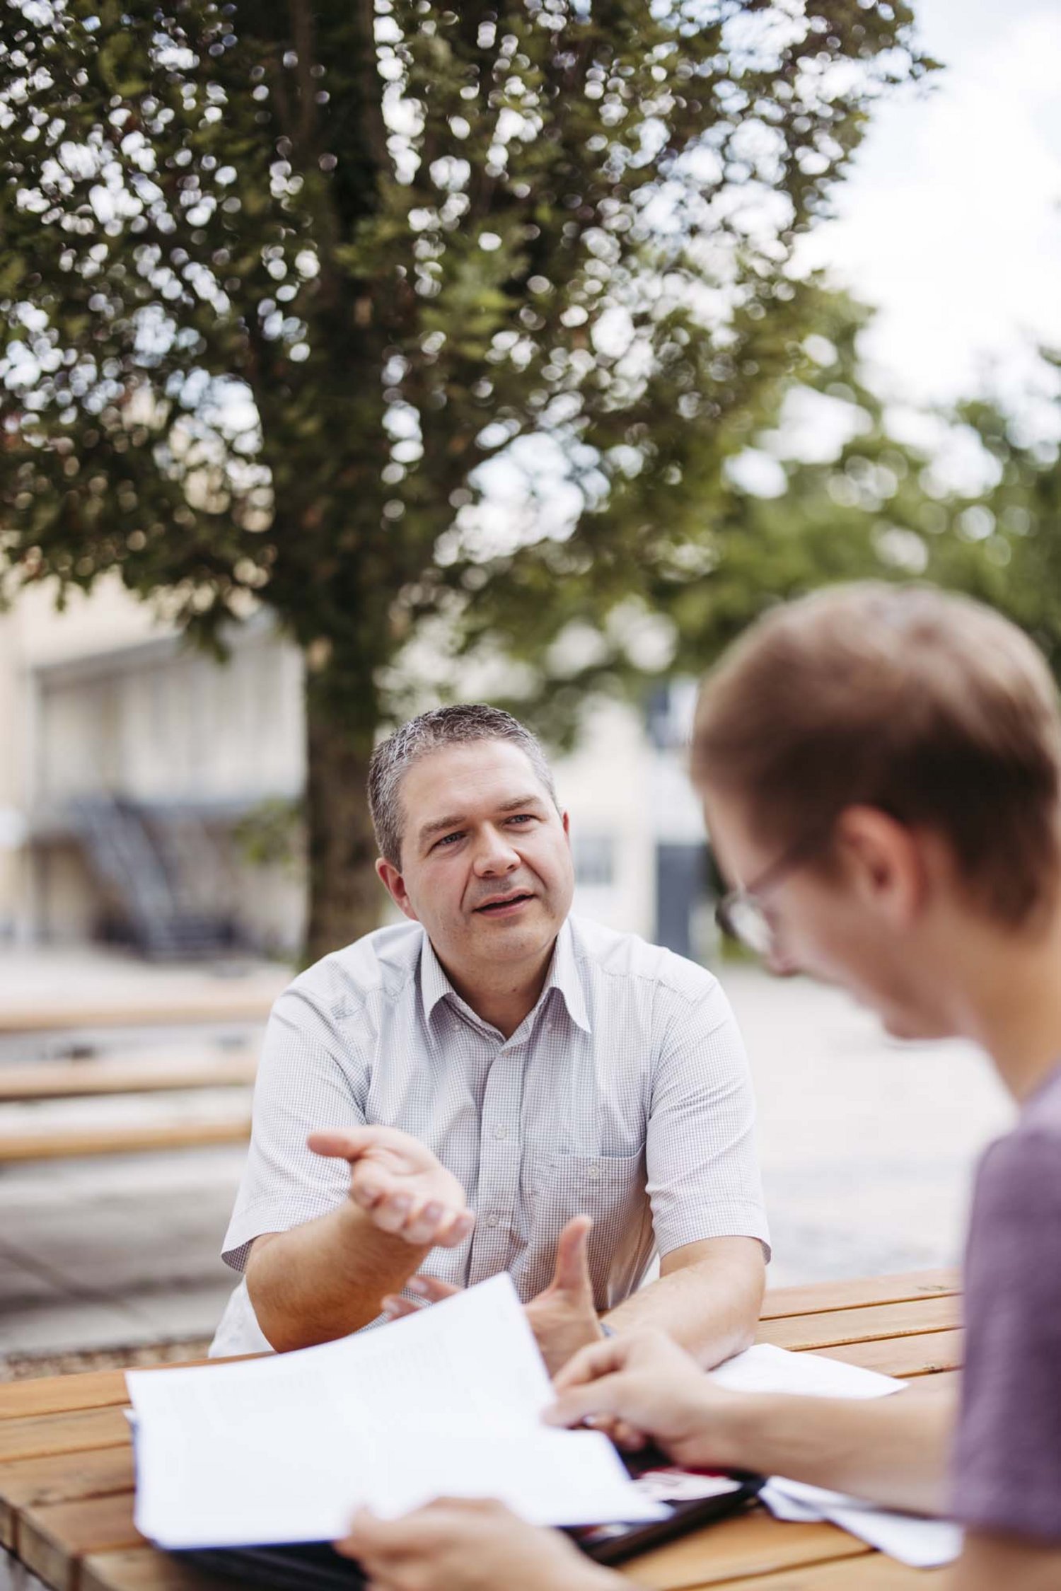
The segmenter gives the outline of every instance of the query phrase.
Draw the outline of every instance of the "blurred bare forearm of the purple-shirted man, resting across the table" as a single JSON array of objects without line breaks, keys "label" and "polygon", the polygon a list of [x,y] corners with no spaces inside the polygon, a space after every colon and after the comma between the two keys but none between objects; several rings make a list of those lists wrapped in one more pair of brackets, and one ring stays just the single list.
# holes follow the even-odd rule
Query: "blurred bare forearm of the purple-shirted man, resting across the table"
[{"label": "blurred bare forearm of the purple-shirted man, resting across the table", "polygon": [[951,1392],[929,1387],[859,1402],[748,1394],[730,1398],[708,1441],[733,1468],[942,1513],[956,1406]]}]

